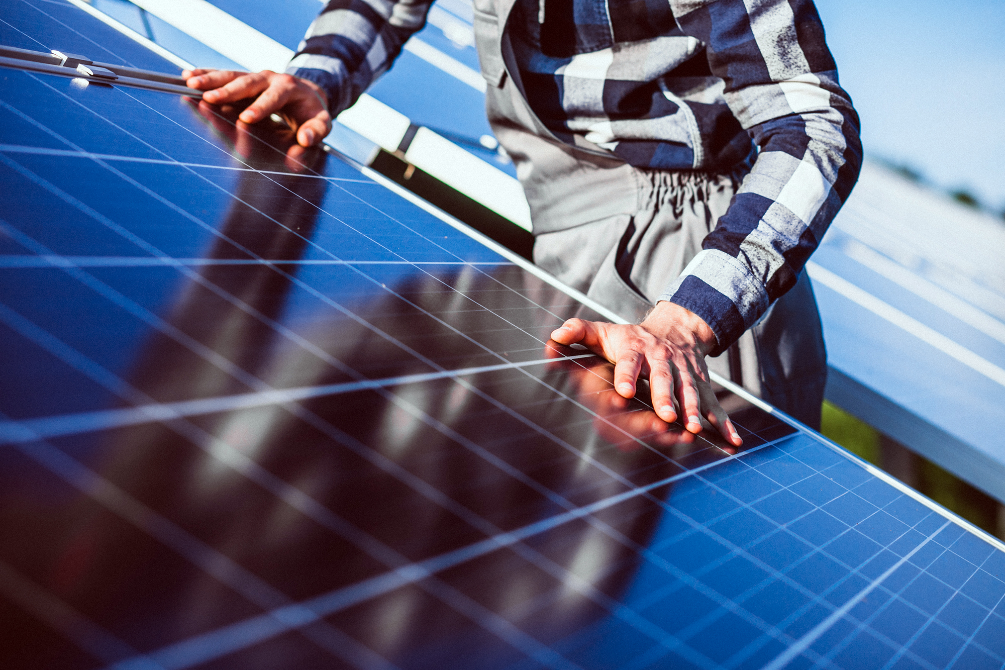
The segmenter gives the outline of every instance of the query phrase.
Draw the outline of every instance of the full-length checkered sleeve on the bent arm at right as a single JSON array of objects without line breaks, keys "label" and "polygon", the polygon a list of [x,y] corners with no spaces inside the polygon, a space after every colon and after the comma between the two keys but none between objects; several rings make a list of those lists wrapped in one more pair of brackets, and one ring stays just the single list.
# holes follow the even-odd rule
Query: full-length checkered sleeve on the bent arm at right
[{"label": "full-length checkered sleeve on the bent arm at right", "polygon": [[702,250],[660,296],[726,350],[792,288],[858,178],[858,117],[838,86],[811,0],[671,0],[706,44],[734,116],[758,145]]}]

